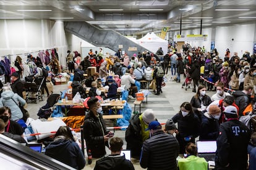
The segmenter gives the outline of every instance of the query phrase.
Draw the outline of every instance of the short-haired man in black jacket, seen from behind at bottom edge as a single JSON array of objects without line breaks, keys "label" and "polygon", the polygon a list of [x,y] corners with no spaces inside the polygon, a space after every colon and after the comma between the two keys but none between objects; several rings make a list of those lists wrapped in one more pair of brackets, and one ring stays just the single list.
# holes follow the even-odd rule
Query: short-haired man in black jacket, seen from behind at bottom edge
[{"label": "short-haired man in black jacket, seen from behind at bottom edge", "polygon": [[124,142],[120,137],[113,137],[109,142],[111,155],[96,161],[94,170],[134,170],[134,165],[126,160],[125,155],[120,155],[123,144]]}]

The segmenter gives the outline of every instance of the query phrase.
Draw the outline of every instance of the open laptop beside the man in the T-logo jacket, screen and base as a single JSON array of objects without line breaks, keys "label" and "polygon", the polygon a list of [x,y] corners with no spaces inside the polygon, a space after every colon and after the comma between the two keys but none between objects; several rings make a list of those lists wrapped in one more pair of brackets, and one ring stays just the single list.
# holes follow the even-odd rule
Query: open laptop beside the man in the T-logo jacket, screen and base
[{"label": "open laptop beside the man in the T-logo jacket, screen and base", "polygon": [[197,153],[199,157],[205,158],[207,161],[214,161],[216,150],[216,140],[197,140]]}]

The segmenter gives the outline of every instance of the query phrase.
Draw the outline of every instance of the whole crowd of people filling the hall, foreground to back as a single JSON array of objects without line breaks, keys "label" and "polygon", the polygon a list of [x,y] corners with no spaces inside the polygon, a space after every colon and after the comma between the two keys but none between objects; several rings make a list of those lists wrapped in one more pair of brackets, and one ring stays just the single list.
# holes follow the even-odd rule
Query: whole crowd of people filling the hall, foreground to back
[{"label": "whole crowd of people filling the hall, foreground to back", "polygon": [[[113,137],[113,133],[106,129],[96,96],[117,99],[117,88],[125,85],[124,90],[129,91],[129,98],[134,99],[138,92],[136,81],[141,80],[154,81],[153,90],[159,95],[163,92],[161,86],[168,71],[171,79],[177,83],[181,83],[181,74],[191,78],[195,95],[190,102],[182,102],[179,112],[166,121],[164,128],[151,109],[132,115],[125,140],[132,157],[140,160],[140,166],[177,169],[178,164],[179,169],[197,169],[199,166],[200,169],[207,169],[207,161],[197,156],[197,138],[216,140],[215,169],[246,169],[248,154],[249,168],[255,164],[254,127],[239,119],[256,112],[256,55],[250,56],[249,52],[245,52],[239,57],[234,52],[231,57],[227,49],[222,60],[216,49],[210,53],[204,47],[191,47],[189,44],[184,44],[183,49],[186,51],[177,52],[175,47],[170,47],[166,55],[159,49],[156,53],[163,55],[159,58],[147,51],[132,57],[122,55],[121,50],[115,55],[105,55],[100,48],[100,52],[90,50],[83,60],[79,54],[73,57],[67,51],[67,67],[70,73],[74,73],[71,85],[73,97],[77,92],[90,97],[87,102],[89,111],[83,123],[83,137],[87,152],[90,150],[93,158],[101,158],[96,162],[95,169],[134,169],[132,163],[120,155],[124,144],[122,139]],[[83,74],[88,73],[88,67],[96,67],[96,72],[85,79]],[[40,68],[40,64],[37,68]],[[36,78],[38,73],[43,76],[40,69],[33,76]],[[25,105],[25,100],[17,87],[20,84],[19,75],[12,74],[12,80],[12,86],[3,87],[1,94],[0,130],[1,134],[24,142],[22,123],[19,122],[23,115],[18,108]],[[104,86],[108,86],[108,92],[102,95],[99,89]],[[145,84],[140,86],[145,87]],[[182,86],[186,86],[186,83]],[[88,94],[85,87],[90,87]],[[209,96],[207,91],[216,93]],[[46,155],[82,169],[85,158],[75,141],[68,127],[60,127],[53,142],[46,147]],[[64,147],[69,149],[64,150]],[[105,156],[105,147],[111,150],[111,155]],[[71,159],[63,155],[73,156]],[[178,163],[177,156],[181,157]]]}]

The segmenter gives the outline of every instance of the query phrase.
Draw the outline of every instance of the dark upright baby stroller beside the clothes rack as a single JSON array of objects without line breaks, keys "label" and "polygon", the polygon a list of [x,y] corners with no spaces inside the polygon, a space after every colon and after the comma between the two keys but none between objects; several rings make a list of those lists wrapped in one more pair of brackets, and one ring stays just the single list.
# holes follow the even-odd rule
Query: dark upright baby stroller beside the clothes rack
[{"label": "dark upright baby stroller beside the clothes rack", "polygon": [[26,92],[26,102],[35,102],[37,103],[37,99],[43,101],[43,80],[45,78],[35,78],[33,79],[33,76],[25,77],[25,83],[24,84],[24,91]]}]

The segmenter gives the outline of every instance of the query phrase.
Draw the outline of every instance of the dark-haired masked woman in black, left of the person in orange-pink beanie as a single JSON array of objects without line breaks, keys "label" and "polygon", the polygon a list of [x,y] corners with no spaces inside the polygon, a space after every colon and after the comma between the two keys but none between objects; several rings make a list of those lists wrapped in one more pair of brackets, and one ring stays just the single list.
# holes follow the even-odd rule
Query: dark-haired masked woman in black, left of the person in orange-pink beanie
[{"label": "dark-haired masked woman in black, left of the person in orange-pink beanie", "polygon": [[176,139],[179,142],[179,153],[181,156],[185,153],[185,147],[189,142],[195,143],[200,131],[200,120],[192,110],[189,102],[181,104],[179,113],[173,116],[173,122],[177,123]]}]

